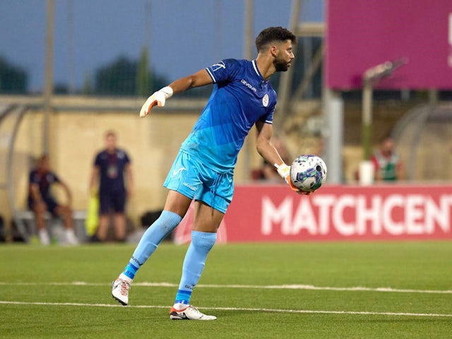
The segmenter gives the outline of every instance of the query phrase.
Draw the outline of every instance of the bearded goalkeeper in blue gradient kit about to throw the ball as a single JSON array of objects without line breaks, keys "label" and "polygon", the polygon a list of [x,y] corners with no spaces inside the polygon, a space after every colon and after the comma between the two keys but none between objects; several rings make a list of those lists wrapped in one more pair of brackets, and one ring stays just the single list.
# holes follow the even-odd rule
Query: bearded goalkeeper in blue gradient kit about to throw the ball
[{"label": "bearded goalkeeper in blue gradient kit about to throw the ball", "polygon": [[[164,186],[169,190],[160,218],[143,234],[129,263],[112,283],[112,295],[123,305],[129,303],[129,289],[137,270],[153,254],[158,244],[181,222],[191,201],[195,218],[191,244],[186,252],[182,278],[170,319],[213,320],[190,304],[208,252],[215,244],[216,232],[232,200],[232,177],[237,155],[252,126],[256,126],[256,148],[278,168],[290,188],[290,167],[270,142],[276,93],[268,78],[287,71],[294,54],[296,37],[289,30],[270,27],[256,38],[258,55],[252,61],[224,59],[191,76],[180,78],[151,95],[141,108],[140,117],[176,93],[214,84],[201,117],[179,150]],[[299,191],[298,191],[299,193]]]}]

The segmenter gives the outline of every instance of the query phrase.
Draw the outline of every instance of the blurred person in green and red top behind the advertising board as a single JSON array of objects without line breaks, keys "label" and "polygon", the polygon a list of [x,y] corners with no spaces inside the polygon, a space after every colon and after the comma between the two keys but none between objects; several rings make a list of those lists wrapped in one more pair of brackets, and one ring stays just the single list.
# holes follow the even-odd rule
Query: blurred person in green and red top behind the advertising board
[{"label": "blurred person in green and red top behind the advertising board", "polygon": [[383,138],[371,161],[374,163],[376,181],[393,182],[405,179],[403,162],[396,153],[395,143],[390,136]]}]

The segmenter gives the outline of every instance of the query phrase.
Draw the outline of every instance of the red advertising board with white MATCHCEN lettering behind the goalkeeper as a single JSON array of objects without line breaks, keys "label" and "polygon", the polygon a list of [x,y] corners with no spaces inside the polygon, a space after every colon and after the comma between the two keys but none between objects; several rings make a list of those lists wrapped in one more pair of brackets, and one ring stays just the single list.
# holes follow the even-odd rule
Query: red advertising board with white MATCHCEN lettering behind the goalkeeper
[{"label": "red advertising board with white MATCHCEN lettering behind the goalkeeper", "polygon": [[[237,186],[218,242],[452,240],[452,186]],[[192,211],[174,241],[190,241]]]}]

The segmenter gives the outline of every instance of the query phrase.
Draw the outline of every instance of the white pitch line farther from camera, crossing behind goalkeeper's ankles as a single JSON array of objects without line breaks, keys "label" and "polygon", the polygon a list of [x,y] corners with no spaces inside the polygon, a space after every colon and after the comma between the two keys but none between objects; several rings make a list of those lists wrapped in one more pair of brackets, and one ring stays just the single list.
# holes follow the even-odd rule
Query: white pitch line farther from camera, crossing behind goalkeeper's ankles
[{"label": "white pitch line farther from camera, crossing behind goalkeeper's ankles", "polygon": [[[0,285],[12,286],[109,286],[105,283],[86,283],[83,281],[73,281],[71,283],[6,283],[0,282]],[[133,283],[133,287],[178,287],[174,283]],[[268,290],[316,290],[316,291],[345,291],[345,292],[396,292],[396,293],[430,293],[430,294],[452,294],[452,290],[410,290],[398,289],[392,287],[328,287],[313,285],[206,285],[200,284],[196,287],[201,288],[251,288],[251,289],[268,289]]]}]

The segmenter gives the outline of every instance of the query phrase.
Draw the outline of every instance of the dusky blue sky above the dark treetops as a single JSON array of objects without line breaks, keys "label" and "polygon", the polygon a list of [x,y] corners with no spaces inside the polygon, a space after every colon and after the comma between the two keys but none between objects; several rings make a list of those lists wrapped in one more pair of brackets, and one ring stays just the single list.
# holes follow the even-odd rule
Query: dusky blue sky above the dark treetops
[{"label": "dusky blue sky above the dark treetops", "polygon": [[[76,87],[80,87],[85,74],[93,74],[119,55],[138,59],[145,44],[149,47],[150,67],[169,81],[218,59],[244,55],[244,0],[55,2],[57,83],[73,79]],[[146,18],[146,2],[150,4],[150,18]],[[41,90],[44,83],[45,3],[45,0],[0,0],[0,55],[28,71],[32,91]],[[69,43],[70,4],[73,49]],[[255,35],[268,26],[287,27],[291,6],[292,0],[254,0]],[[323,0],[302,1],[301,20],[323,21],[323,6]],[[148,39],[146,27],[150,30]]]}]

